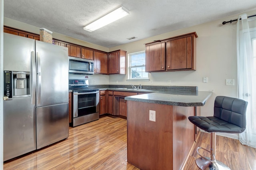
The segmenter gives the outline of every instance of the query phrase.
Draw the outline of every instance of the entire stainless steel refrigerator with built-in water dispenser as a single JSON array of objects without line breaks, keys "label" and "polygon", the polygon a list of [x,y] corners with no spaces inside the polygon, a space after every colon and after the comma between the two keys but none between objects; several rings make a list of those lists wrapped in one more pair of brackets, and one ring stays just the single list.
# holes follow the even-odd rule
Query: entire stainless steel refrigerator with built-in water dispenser
[{"label": "entire stainless steel refrigerator with built-in water dispenser", "polygon": [[4,33],[4,161],[68,137],[68,48]]}]

